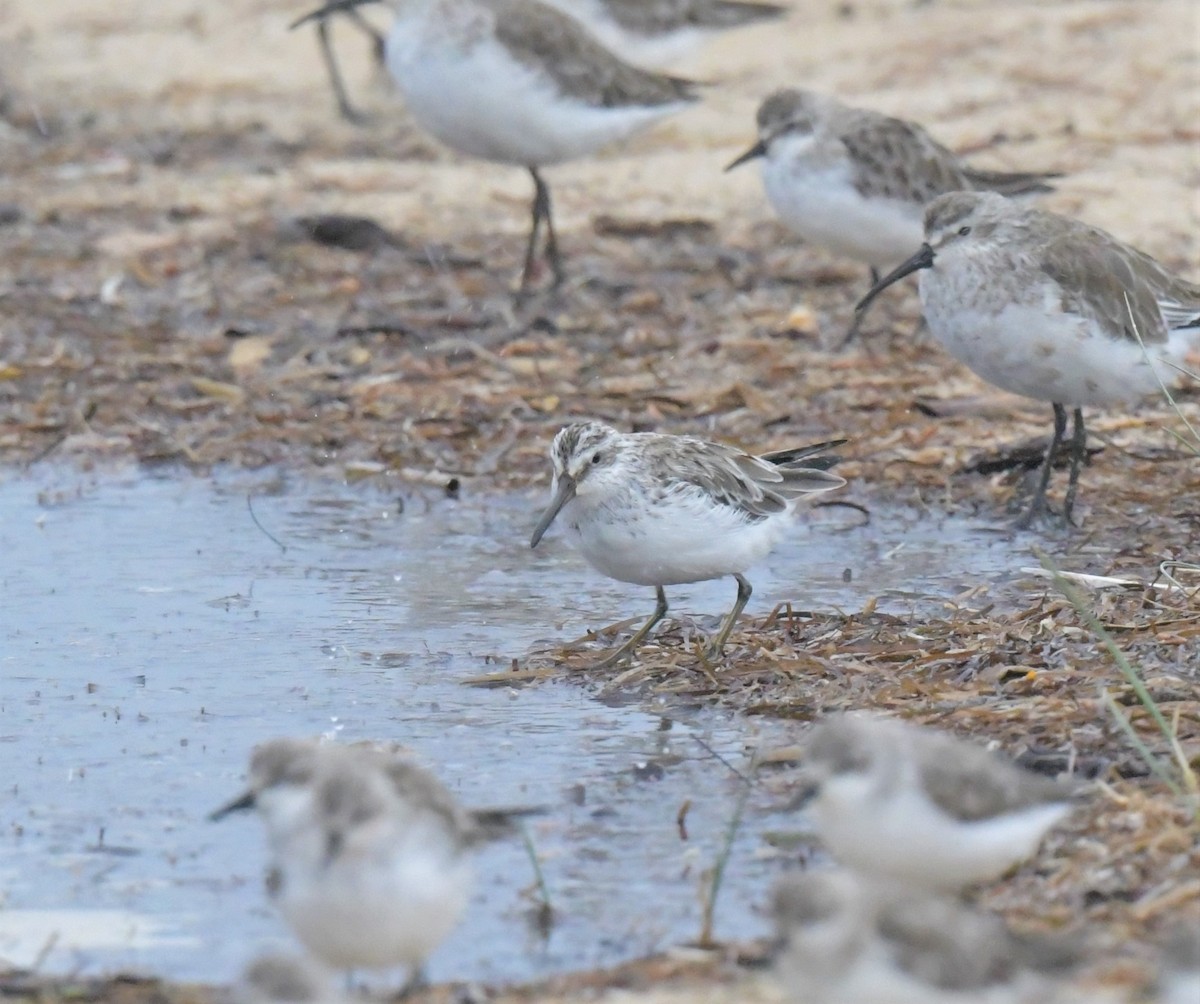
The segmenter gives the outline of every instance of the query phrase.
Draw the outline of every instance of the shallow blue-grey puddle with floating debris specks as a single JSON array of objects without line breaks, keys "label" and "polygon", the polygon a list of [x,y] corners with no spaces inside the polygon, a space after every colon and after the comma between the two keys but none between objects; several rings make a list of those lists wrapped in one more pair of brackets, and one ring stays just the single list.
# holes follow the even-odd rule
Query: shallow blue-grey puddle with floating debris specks
[{"label": "shallow blue-grey puddle with floating debris specks", "polygon": [[[317,733],[402,741],[468,804],[548,806],[529,828],[559,916],[548,939],[527,922],[521,842],[491,846],[434,979],[522,979],[696,937],[740,783],[713,752],[740,763],[748,739],[794,727],[607,707],[575,684],[462,686],[535,643],[648,614],[653,594],[592,572],[553,531],[530,552],[541,492],[404,488],[400,511],[400,491],[262,473],[0,483],[0,963],[228,980],[286,944],[257,820],[205,814],[240,789],[256,743]],[[876,513],[832,533],[842,517],[818,518],[750,575],[749,614],[881,595],[919,608],[1027,563],[967,521]],[[668,596],[715,617],[733,585]],[[799,825],[751,798],[718,936],[766,932],[779,865],[762,834]]]}]

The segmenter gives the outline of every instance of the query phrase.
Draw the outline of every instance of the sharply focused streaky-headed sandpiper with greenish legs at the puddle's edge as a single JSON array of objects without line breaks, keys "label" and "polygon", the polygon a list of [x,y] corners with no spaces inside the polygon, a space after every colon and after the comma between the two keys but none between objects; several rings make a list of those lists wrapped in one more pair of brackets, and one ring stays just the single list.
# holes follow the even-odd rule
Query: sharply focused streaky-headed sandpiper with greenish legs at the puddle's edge
[{"label": "sharply focused streaky-headed sandpiper with greenish legs at the puddle's edge", "polygon": [[743,576],[792,522],[800,499],[846,481],[820,456],[838,439],[761,457],[689,435],[622,433],[600,422],[560,429],[550,447],[551,501],[534,528],[536,547],[562,515],[571,542],[594,569],[653,585],[650,619],[598,668],[630,655],[667,612],[662,587],[733,576],[738,596],[708,650],[716,659],[750,599]]}]

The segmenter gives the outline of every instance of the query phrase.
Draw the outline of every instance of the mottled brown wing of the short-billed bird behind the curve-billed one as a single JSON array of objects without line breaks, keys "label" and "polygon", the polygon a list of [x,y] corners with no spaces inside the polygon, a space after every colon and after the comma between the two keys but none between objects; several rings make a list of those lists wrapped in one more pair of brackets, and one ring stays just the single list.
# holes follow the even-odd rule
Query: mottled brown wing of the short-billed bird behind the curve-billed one
[{"label": "mottled brown wing of the short-billed bird behind the curve-billed one", "polygon": [[971,187],[959,158],[920,126],[854,109],[839,130],[863,196],[924,205],[946,192]]}]

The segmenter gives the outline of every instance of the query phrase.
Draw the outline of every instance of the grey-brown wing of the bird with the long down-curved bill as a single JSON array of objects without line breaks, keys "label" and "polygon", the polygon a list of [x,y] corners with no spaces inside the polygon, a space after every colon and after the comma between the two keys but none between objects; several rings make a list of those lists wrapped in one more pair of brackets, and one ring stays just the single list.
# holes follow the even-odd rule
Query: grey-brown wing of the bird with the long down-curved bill
[{"label": "grey-brown wing of the bird with the long down-curved bill", "polygon": [[1098,323],[1111,338],[1165,343],[1169,332],[1200,325],[1200,287],[1171,275],[1148,254],[1076,221],[1039,250],[1039,266],[1062,290],[1063,309]]}]

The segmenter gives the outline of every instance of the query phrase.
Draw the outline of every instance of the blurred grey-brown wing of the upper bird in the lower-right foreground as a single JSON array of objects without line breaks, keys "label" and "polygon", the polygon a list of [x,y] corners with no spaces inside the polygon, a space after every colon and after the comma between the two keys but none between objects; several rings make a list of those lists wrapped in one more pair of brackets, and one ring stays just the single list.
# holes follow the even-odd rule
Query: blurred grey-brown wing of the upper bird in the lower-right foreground
[{"label": "blurred grey-brown wing of the upper bird in the lower-right foreground", "polygon": [[1066,801],[1062,784],[950,737],[922,737],[920,780],[934,804],[961,822]]}]

